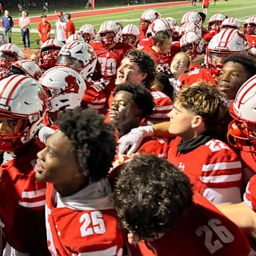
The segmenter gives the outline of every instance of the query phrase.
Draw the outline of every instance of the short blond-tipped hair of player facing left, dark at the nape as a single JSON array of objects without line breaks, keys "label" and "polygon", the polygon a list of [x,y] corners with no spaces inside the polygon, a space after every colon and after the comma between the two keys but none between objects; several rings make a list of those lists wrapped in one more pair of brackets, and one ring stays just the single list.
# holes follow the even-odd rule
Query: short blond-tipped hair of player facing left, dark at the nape
[{"label": "short blond-tipped hair of player facing left, dark at the nape", "polygon": [[196,82],[193,85],[183,87],[175,99],[182,107],[203,117],[206,131],[213,131],[223,121],[228,110],[225,95],[214,85],[208,82]]}]

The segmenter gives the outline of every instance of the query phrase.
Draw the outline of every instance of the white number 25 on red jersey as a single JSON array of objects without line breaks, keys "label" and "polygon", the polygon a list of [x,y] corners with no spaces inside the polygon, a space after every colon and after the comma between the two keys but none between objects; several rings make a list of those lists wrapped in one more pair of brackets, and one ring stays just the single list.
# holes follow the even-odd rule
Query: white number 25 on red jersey
[{"label": "white number 25 on red jersey", "polygon": [[[82,238],[86,235],[104,234],[106,232],[105,223],[100,211],[82,214],[80,223],[82,223],[80,227]],[[92,224],[92,228],[88,228],[90,224]]]}]

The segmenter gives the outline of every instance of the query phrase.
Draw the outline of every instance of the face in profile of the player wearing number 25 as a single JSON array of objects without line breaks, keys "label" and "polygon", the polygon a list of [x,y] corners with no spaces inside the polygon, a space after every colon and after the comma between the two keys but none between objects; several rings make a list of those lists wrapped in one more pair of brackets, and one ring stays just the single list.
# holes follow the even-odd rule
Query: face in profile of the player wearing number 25
[{"label": "face in profile of the player wearing number 25", "polygon": [[[36,179],[53,183],[55,188],[68,187],[78,169],[73,145],[67,136],[57,130],[48,138],[46,147],[37,154]],[[58,190],[58,189],[57,189]]]}]

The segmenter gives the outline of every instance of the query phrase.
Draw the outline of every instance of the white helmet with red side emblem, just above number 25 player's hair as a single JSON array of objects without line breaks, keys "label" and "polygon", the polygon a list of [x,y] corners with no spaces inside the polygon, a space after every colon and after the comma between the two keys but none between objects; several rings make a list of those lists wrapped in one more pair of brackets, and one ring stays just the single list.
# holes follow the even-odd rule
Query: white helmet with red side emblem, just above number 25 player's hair
[{"label": "white helmet with red side emblem, just above number 25 player's hair", "polygon": [[50,68],[39,82],[47,92],[48,110],[56,114],[63,110],[73,110],[80,106],[86,85],[82,76],[68,67]]}]

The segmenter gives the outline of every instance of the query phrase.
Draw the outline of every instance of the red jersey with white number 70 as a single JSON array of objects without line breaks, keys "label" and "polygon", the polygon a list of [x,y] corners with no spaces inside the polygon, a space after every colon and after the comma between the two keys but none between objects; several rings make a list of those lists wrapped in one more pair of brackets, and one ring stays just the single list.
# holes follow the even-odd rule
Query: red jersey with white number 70
[{"label": "red jersey with white number 70", "polygon": [[90,45],[95,50],[100,63],[102,78],[107,80],[114,80],[116,78],[117,68],[119,68],[124,54],[127,53],[128,50],[135,48],[128,43],[117,43],[111,50],[102,46],[100,42],[92,42]]}]

